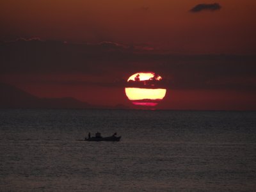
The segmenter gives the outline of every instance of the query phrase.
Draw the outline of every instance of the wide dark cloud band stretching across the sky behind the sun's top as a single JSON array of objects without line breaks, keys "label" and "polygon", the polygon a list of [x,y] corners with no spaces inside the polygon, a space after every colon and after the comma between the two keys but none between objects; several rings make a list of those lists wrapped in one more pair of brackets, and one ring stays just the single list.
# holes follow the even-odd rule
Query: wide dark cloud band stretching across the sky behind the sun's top
[{"label": "wide dark cloud band stretching across the sky behind the sun's top", "polygon": [[122,87],[131,74],[153,71],[163,77],[161,86],[170,89],[256,90],[256,56],[172,55],[134,47],[36,39],[1,42],[0,78],[8,74],[84,74],[105,80],[48,79],[42,83]]}]

